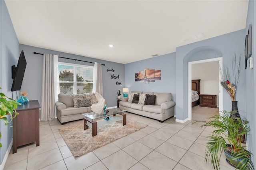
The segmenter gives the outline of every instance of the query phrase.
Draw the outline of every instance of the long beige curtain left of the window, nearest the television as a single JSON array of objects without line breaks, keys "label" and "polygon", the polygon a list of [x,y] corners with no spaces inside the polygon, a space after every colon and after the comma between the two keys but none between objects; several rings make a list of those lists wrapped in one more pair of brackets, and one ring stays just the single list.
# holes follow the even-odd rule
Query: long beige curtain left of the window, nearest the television
[{"label": "long beige curtain left of the window, nearest the television", "polygon": [[58,55],[46,54],[43,57],[43,78],[42,78],[42,101],[41,101],[41,121],[55,119],[55,102],[58,97],[58,81],[54,83],[56,77],[55,65],[58,65]]}]

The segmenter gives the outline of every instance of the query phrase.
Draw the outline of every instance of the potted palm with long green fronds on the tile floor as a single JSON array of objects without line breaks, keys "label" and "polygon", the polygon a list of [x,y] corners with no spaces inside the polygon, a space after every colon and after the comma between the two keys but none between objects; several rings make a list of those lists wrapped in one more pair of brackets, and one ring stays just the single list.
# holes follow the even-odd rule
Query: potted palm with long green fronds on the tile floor
[{"label": "potted palm with long green fronds on the tile floor", "polygon": [[214,115],[210,117],[210,121],[204,121],[204,125],[201,126],[216,128],[216,130],[208,136],[210,140],[206,144],[205,162],[207,163],[207,161],[210,160],[215,170],[220,169],[219,154],[223,150],[227,162],[236,167],[236,169],[254,170],[254,165],[251,160],[252,152],[247,150],[246,146],[242,144],[243,136],[247,135],[250,131],[248,121],[230,117],[230,114],[235,111],[221,112],[223,113],[222,116]]}]

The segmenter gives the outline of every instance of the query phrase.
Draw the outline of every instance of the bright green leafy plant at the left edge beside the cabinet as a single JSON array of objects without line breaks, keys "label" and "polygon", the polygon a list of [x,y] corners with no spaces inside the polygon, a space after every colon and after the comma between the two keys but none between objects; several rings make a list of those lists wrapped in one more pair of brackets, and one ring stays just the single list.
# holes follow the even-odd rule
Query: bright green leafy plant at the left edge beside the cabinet
[{"label": "bright green leafy plant at the left edge beside the cabinet", "polygon": [[[2,89],[0,87],[0,89]],[[7,100],[7,99],[9,100]],[[4,121],[5,125],[8,125],[13,118],[15,118],[18,113],[16,112],[17,106],[20,105],[20,103],[16,102],[15,100],[6,97],[4,93],[0,93],[0,119]],[[13,115],[14,113],[14,115]],[[10,122],[8,121],[7,117],[5,115],[10,115]],[[0,137],[1,137],[1,132],[0,132]],[[0,147],[2,147],[2,143],[0,143]]]}]

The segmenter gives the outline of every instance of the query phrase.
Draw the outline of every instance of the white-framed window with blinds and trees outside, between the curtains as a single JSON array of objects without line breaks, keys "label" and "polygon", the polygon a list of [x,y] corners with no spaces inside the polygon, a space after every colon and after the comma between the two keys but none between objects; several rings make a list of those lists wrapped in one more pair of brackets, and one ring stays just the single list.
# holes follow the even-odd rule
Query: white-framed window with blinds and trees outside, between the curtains
[{"label": "white-framed window with blinds and trees outside, between the curtains", "polygon": [[60,62],[58,67],[60,78],[60,93],[92,93],[94,67]]}]

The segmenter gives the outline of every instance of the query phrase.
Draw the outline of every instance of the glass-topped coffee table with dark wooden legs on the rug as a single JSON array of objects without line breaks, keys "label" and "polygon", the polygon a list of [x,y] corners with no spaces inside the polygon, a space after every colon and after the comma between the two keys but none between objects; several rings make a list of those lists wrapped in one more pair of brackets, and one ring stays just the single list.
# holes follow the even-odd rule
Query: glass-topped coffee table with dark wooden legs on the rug
[{"label": "glass-topped coffee table with dark wooden legs on the rug", "polygon": [[[97,127],[107,125],[110,123],[114,123],[116,121],[123,120],[123,126],[126,125],[126,114],[124,112],[127,112],[126,110],[119,109],[119,108],[114,108],[114,109],[109,109],[108,113],[104,113],[102,111],[101,114],[97,113],[83,113],[82,115],[85,116],[84,118],[84,130],[88,129],[89,127],[92,128],[92,136],[97,135]],[[116,116],[116,114],[121,115],[121,116]],[[109,119],[112,117],[110,120],[105,120]],[[104,119],[105,118],[105,119]],[[96,121],[96,119],[98,119]]]}]

